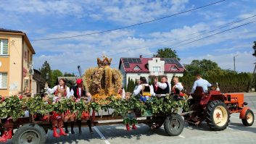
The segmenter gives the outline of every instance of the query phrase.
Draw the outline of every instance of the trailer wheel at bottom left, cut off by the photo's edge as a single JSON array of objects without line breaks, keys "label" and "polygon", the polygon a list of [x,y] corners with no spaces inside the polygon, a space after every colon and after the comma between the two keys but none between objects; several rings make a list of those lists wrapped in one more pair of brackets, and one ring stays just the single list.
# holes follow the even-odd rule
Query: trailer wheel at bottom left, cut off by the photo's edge
[{"label": "trailer wheel at bottom left, cut off by the photo's edge", "polygon": [[19,127],[12,137],[12,143],[35,143],[43,144],[46,142],[46,132],[38,124],[25,124]]}]

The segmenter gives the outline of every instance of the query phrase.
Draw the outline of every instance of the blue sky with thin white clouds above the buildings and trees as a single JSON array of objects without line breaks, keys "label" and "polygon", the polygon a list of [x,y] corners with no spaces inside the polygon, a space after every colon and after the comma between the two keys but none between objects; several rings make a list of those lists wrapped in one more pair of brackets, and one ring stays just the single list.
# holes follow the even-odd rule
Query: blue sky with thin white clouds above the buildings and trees
[{"label": "blue sky with thin white clouds above the buildings and trees", "polygon": [[[0,0],[0,27],[22,30],[28,35],[36,51],[36,55],[33,56],[36,69],[47,60],[51,69],[75,72],[78,75],[76,69],[78,65],[82,69],[95,67],[96,58],[103,54],[112,57],[112,67],[117,68],[120,57],[139,57],[139,55],[151,57],[157,49],[169,47],[177,51],[182,64],[189,64],[193,59],[210,59],[217,62],[223,69],[234,69],[233,58],[236,56],[236,70],[252,72],[255,67],[252,46],[253,41],[256,41],[256,22],[181,45],[255,21],[256,17],[252,17],[213,33],[205,35],[200,33],[255,15],[255,0],[226,0],[203,9],[110,33],[33,41],[125,27],[201,7],[215,1]],[[197,38],[186,41],[195,36]],[[182,43],[182,41],[186,42]]]}]

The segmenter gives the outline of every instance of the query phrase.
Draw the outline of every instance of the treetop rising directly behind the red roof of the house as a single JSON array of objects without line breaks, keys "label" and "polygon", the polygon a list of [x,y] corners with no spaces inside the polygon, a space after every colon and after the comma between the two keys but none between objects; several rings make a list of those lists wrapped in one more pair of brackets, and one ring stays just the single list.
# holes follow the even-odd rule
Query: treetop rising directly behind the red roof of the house
[{"label": "treetop rising directly behind the red roof of the house", "polygon": [[176,50],[172,50],[172,48],[161,48],[157,50],[156,56],[161,58],[176,58],[180,61],[181,59],[176,53]]}]

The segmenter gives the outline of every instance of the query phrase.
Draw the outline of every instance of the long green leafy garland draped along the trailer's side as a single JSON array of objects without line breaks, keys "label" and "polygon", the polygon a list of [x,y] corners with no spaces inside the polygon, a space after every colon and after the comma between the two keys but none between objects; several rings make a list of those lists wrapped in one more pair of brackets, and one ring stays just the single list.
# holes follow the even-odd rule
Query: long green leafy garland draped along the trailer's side
[{"label": "long green leafy garland draped along the trailer's side", "polygon": [[[52,101],[52,98],[50,98]],[[45,103],[40,96],[28,98],[27,101],[20,100],[18,96],[11,96],[5,98],[0,103],[0,117],[12,117],[17,119],[25,115],[25,110],[29,110],[30,114],[49,114],[51,111],[65,112],[70,110],[71,113],[77,113],[81,116],[82,111],[100,109],[107,111],[107,109],[114,109],[113,116],[125,115],[130,110],[139,110],[144,113],[146,110],[152,111],[153,115],[170,114],[170,111],[183,107],[185,111],[188,110],[186,101],[176,101],[172,96],[165,96],[165,98],[152,97],[146,102],[139,101],[138,96],[131,96],[128,100],[117,99],[115,96],[109,96],[105,99],[92,99],[90,103],[86,101],[75,102],[70,98],[63,98],[62,101],[54,104]],[[22,109],[20,109],[22,108]]]}]

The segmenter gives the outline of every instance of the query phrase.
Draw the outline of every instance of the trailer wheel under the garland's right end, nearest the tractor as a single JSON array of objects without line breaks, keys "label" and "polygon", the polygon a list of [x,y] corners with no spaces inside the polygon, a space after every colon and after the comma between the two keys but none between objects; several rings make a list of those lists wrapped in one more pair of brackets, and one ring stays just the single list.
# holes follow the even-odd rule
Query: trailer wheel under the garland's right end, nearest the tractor
[{"label": "trailer wheel under the garland's right end, nearest the tractor", "polygon": [[178,114],[172,114],[165,119],[165,132],[170,136],[180,135],[184,128],[184,120]]}]

